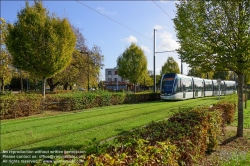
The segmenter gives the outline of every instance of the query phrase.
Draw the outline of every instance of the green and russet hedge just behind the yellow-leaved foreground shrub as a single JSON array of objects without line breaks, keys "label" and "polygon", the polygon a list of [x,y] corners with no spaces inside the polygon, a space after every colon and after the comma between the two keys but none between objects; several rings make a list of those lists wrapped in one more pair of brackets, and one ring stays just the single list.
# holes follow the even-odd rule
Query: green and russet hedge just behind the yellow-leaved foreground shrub
[{"label": "green and russet hedge just behind the yellow-leaved foreground shrub", "polygon": [[221,123],[219,111],[209,111],[207,107],[188,108],[182,109],[167,121],[152,122],[117,139],[122,144],[127,144],[131,139],[145,139],[150,145],[170,140],[180,153],[179,165],[192,165],[205,152],[211,152],[217,147],[222,131]]}]

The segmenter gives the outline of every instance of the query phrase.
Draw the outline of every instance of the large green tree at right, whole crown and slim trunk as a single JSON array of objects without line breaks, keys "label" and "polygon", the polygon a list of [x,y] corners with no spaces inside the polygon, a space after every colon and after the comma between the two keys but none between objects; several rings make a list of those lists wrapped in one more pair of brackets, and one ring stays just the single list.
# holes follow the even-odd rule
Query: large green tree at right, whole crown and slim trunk
[{"label": "large green tree at right, whole crown and slim trunk", "polygon": [[243,83],[250,68],[250,1],[181,1],[176,5],[178,53],[206,71],[230,70],[238,76],[238,128],[243,136]]}]

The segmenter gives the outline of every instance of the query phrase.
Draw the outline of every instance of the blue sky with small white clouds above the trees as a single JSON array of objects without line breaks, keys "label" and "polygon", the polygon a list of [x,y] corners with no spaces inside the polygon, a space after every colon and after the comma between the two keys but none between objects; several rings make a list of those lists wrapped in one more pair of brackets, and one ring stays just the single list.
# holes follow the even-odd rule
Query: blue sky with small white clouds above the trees
[{"label": "blue sky with small white clouds above the trees", "polygon": [[[33,4],[33,0],[28,1]],[[17,21],[17,13],[25,7],[25,1],[1,0],[1,17],[9,23]],[[97,45],[104,56],[104,68],[100,80],[105,80],[105,68],[116,67],[116,59],[132,42],[141,47],[147,57],[148,70],[153,70],[154,29],[155,52],[173,51],[179,48],[172,19],[175,17],[176,1],[53,1],[43,0],[44,7],[61,18],[67,18],[79,28],[87,46]],[[155,54],[156,74],[172,56],[178,62],[175,52]],[[183,63],[183,73],[188,65]]]}]

